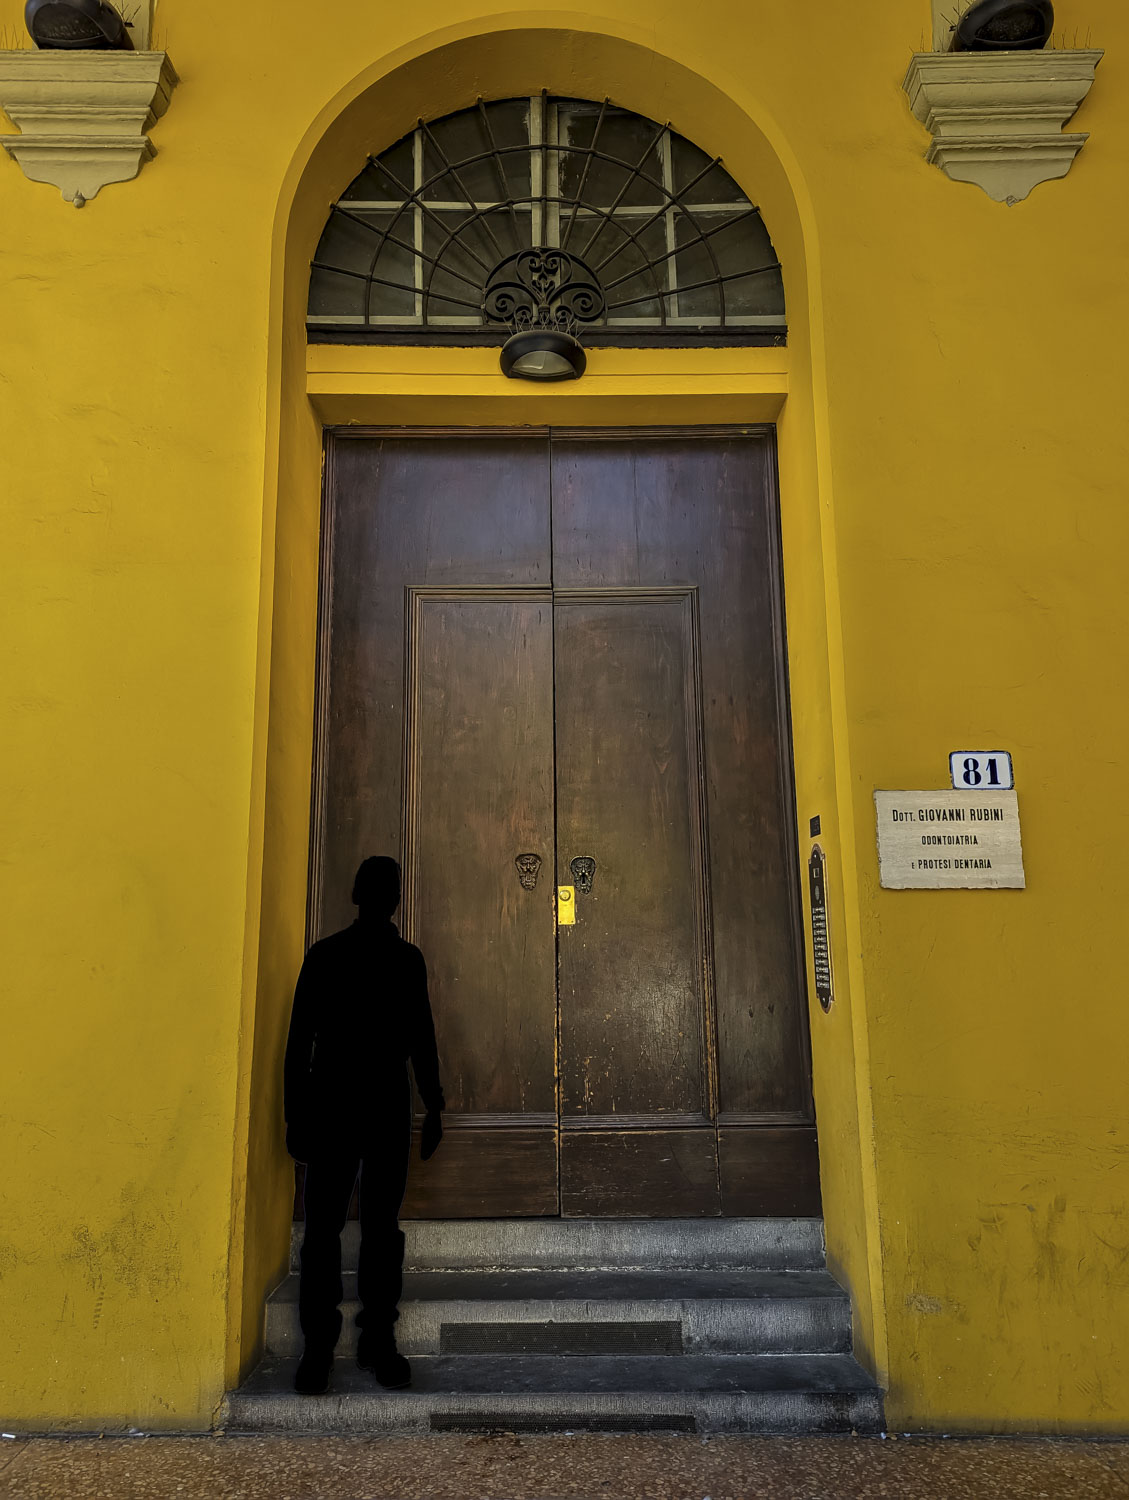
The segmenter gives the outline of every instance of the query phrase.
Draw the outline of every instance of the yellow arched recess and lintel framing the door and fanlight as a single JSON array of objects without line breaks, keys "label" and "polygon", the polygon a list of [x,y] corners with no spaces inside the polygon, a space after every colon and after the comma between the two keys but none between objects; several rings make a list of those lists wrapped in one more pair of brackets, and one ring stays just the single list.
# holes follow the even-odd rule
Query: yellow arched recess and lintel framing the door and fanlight
[{"label": "yellow arched recess and lintel framing the door and fanlight", "polygon": [[[790,312],[787,363],[745,360],[744,356],[736,362],[732,357],[718,360],[714,348],[670,350],[663,352],[661,360],[648,357],[648,362],[639,363],[634,357],[627,358],[627,351],[609,350],[601,356],[607,378],[601,375],[595,405],[586,390],[517,390],[496,374],[486,374],[493,366],[483,364],[480,350],[417,351],[415,363],[411,358],[397,360],[396,369],[409,372],[402,381],[399,375],[390,380],[391,362],[378,375],[358,381],[352,375],[360,368],[355,360],[340,380],[334,375],[319,381],[306,375],[303,324],[309,262],[324,228],[325,204],[342,194],[367,154],[412,126],[420,117],[421,99],[439,102],[441,96],[448,110],[471,108],[478,96],[505,99],[528,90],[532,98],[546,82],[559,98],[601,99],[609,80],[615,80],[616,96],[625,104],[651,118],[669,116],[682,124],[687,138],[699,141],[708,153],[720,154],[724,146],[735,177],[757,184],[757,196],[766,220],[772,224],[774,243],[784,264]],[[429,111],[432,117],[436,112]],[[514,18],[489,33],[475,33],[468,26],[465,34],[433,38],[411,54],[373,64],[327,106],[295,154],[279,208],[273,286],[276,322],[270,411],[274,446],[267,462],[268,528],[264,537],[270,582],[264,594],[264,662],[268,663],[268,674],[262,686],[262,801],[258,804],[262,808],[264,858],[253,1064],[247,1068],[246,1179],[237,1167],[237,1190],[241,1180],[250,1180],[253,1190],[246,1196],[246,1221],[237,1218],[232,1242],[244,1287],[243,1334],[241,1338],[234,1336],[232,1350],[243,1364],[256,1346],[262,1293],[283,1264],[283,1227],[289,1209],[288,1164],[280,1154],[277,1125],[277,1060],[289,987],[304,942],[304,813],[315,676],[316,564],[312,543],[319,524],[318,470],[327,420],[510,426],[552,424],[571,417],[573,422],[583,418],[603,428],[616,423],[652,424],[663,418],[679,426],[711,418],[744,424],[780,414],[778,453],[787,495],[783,550],[789,574],[792,688],[793,699],[798,696],[802,705],[805,735],[805,753],[798,762],[799,800],[804,804],[811,788],[817,786],[825,828],[835,825],[831,741],[835,700],[828,681],[828,596],[820,561],[820,544],[829,536],[829,496],[817,484],[825,466],[826,429],[813,398],[813,362],[817,370],[822,366],[819,340],[813,334],[811,314],[817,304],[810,294],[805,250],[805,238],[814,243],[814,236],[811,224],[802,224],[802,184],[792,168],[783,165],[787,152],[769,142],[765,129],[754,123],[756,116],[753,105],[735,102],[717,84],[681,63],[658,57],[633,38],[528,27]],[[310,357],[309,369],[316,368],[316,358]],[[709,381],[703,381],[706,369],[720,372],[721,378],[711,375]],[[424,374],[417,380],[412,370]],[[342,390],[346,392],[343,405],[334,405]],[[333,394],[322,394],[325,392]],[[343,416],[337,417],[339,411]],[[840,982],[840,994],[846,994],[846,976]],[[865,1323],[870,1317],[867,1232],[859,1228],[868,1221],[864,1208],[868,1178],[865,1172],[859,1178],[852,1144],[861,1128],[855,1120],[855,1082],[850,1062],[844,1068],[841,1053],[831,1052],[828,1058],[831,1064],[823,1074],[820,1112],[825,1125],[831,1125],[831,1152],[825,1152],[823,1173],[826,1180],[831,1167],[841,1215],[838,1239],[844,1262],[858,1270],[856,1288],[865,1304]],[[819,1064],[816,1092],[820,1094]],[[840,1122],[847,1122],[841,1131]],[[853,1221],[852,1214],[856,1214]]]}]

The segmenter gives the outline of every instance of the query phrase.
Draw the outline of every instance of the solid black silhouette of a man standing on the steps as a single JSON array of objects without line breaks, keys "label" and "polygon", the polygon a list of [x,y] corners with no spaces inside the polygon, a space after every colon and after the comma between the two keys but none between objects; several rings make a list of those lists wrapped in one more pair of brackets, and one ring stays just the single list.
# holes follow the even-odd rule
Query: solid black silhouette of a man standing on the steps
[{"label": "solid black silhouette of a man standing on the steps", "polygon": [[442,1137],[439,1059],[423,954],[391,921],[400,867],[373,856],[357,872],[357,920],[313,944],[298,975],[285,1062],[286,1149],[306,1162],[298,1317],[306,1350],[294,1389],[328,1389],[342,1328],[340,1233],[360,1184],[357,1364],[388,1389],[411,1366],[393,1324],[403,1290],[400,1202],[411,1148],[411,1084],[427,1112],[424,1161]]}]

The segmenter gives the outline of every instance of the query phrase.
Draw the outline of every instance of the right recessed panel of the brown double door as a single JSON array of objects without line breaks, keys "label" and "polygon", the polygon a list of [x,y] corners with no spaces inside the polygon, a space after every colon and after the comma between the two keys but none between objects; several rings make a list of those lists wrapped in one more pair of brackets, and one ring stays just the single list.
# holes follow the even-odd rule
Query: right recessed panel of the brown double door
[{"label": "right recessed panel of the brown double door", "polygon": [[561,1118],[712,1114],[690,590],[556,594]]}]

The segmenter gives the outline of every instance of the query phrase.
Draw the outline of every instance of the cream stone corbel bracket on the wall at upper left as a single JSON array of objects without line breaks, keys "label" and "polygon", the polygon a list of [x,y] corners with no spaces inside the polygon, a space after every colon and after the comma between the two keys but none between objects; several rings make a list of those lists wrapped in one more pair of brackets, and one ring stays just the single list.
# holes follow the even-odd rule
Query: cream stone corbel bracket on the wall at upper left
[{"label": "cream stone corbel bracket on the wall at upper left", "polygon": [[22,132],[0,142],[25,177],[81,208],[156,156],[145,132],[177,82],[166,52],[0,52],[0,108]]}]

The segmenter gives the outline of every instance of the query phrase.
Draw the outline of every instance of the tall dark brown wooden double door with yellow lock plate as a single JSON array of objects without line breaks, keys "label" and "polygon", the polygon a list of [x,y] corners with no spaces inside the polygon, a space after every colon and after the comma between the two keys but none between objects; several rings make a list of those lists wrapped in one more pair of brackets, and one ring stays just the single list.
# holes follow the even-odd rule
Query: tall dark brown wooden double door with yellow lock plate
[{"label": "tall dark brown wooden double door with yellow lock plate", "polygon": [[817,1212],[772,430],[325,476],[312,936],[400,856],[448,1102],[405,1214]]}]

